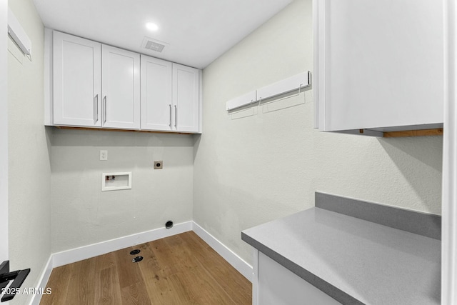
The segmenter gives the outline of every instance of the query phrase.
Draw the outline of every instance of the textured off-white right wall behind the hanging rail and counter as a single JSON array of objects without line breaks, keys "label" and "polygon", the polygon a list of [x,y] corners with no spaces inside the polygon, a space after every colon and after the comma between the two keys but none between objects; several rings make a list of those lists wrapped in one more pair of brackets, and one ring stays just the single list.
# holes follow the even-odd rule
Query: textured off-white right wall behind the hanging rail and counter
[{"label": "textured off-white right wall behind the hanging rail and counter", "polygon": [[227,100],[312,71],[311,2],[293,1],[204,69],[194,221],[246,261],[240,232],[313,206],[315,191],[441,214],[441,136],[315,131],[312,91],[227,114]]}]

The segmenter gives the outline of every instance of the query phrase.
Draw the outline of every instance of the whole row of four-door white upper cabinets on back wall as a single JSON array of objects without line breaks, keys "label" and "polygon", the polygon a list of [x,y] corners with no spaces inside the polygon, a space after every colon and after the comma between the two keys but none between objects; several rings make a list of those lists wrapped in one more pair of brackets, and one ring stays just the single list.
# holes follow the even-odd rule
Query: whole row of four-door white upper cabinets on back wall
[{"label": "whole row of four-door white upper cabinets on back wall", "polygon": [[50,29],[45,40],[46,125],[201,132],[199,69]]}]

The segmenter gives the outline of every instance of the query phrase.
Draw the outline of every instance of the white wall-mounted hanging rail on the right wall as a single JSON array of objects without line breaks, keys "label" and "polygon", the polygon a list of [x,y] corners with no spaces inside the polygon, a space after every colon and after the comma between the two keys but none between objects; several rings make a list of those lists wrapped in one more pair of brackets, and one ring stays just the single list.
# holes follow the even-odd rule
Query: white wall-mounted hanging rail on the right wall
[{"label": "white wall-mounted hanging rail on the right wall", "polygon": [[256,101],[271,99],[275,96],[281,96],[282,94],[286,94],[291,91],[301,90],[308,86],[311,86],[310,71],[291,76],[288,79],[277,81],[274,84],[261,87],[260,89],[256,89],[254,91],[243,94],[242,96],[238,96],[235,99],[231,99],[226,102],[226,110],[232,111],[234,109],[252,104]]}]

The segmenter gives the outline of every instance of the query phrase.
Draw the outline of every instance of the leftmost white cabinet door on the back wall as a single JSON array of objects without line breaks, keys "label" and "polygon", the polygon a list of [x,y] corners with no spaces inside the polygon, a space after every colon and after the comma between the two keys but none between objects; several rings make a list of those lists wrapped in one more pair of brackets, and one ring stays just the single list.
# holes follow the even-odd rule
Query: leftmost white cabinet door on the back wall
[{"label": "leftmost white cabinet door on the back wall", "polygon": [[54,125],[101,126],[101,44],[54,31]]}]

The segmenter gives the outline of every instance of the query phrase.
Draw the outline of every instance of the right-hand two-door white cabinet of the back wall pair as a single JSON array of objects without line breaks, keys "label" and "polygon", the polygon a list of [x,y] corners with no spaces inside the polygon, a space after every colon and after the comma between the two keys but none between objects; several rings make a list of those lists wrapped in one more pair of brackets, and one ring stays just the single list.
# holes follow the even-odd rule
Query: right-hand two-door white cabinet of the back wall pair
[{"label": "right-hand two-door white cabinet of the back wall pair", "polygon": [[198,132],[199,73],[141,55],[141,129]]}]

